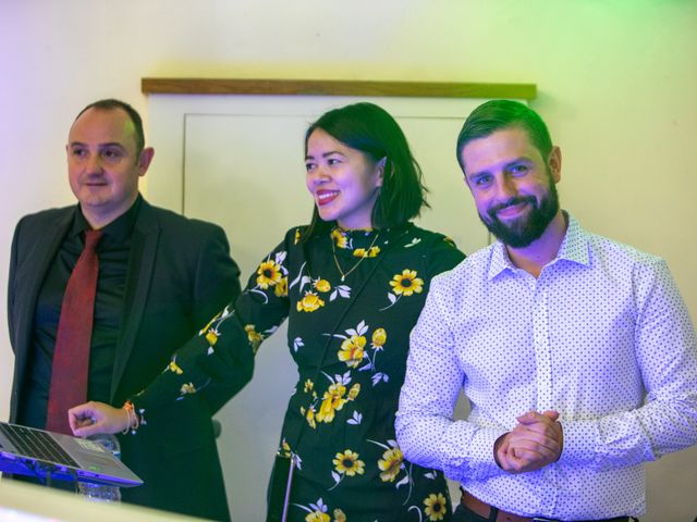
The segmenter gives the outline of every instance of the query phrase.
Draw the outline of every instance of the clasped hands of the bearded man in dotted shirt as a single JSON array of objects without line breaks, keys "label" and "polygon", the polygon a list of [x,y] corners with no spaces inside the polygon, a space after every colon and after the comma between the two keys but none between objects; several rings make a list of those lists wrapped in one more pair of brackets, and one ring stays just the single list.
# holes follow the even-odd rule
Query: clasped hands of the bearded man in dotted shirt
[{"label": "clasped hands of the bearded man in dotted shirt", "polygon": [[562,455],[564,436],[559,412],[528,411],[517,418],[518,425],[499,437],[493,453],[499,467],[509,473],[536,471]]}]

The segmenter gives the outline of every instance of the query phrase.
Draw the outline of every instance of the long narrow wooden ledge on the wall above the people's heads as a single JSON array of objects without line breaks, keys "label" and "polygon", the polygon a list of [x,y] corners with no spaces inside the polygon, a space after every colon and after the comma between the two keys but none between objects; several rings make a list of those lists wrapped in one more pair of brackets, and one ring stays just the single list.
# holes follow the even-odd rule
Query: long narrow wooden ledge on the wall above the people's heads
[{"label": "long narrow wooden ledge on the wall above the people's heads", "polygon": [[535,84],[354,82],[321,79],[142,78],[148,95],[306,95],[533,100]]}]

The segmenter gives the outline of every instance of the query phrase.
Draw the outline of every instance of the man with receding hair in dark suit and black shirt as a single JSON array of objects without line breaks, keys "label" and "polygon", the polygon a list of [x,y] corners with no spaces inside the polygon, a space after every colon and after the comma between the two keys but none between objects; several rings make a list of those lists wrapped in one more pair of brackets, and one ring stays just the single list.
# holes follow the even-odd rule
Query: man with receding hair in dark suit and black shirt
[{"label": "man with receding hair in dark suit and black shirt", "polygon": [[[120,407],[240,293],[240,271],[219,226],[151,207],[139,195],[154,156],[144,145],[133,108],[91,103],[66,146],[78,204],[27,215],[16,226],[8,299],[15,355],[11,422],[46,426],[61,303],[86,231],[103,231],[88,400]],[[123,500],[229,520],[211,415],[234,391],[211,385],[159,412],[158,422],[122,435],[122,459],[145,481],[124,489]]]}]

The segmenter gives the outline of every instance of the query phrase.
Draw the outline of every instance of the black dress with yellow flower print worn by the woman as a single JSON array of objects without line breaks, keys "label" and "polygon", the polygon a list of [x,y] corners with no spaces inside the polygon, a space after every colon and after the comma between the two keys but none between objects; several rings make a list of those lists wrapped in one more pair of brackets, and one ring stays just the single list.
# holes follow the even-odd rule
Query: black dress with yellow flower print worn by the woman
[{"label": "black dress with yellow flower print worn by the woman", "polygon": [[174,356],[136,407],[151,419],[172,394],[182,399],[240,378],[235,362],[288,318],[299,373],[280,438],[281,451],[298,459],[289,520],[450,520],[442,473],[404,460],[394,417],[408,335],[430,279],[464,254],[411,223],[381,232],[335,227],[307,241],[303,232],[289,231],[234,307]]}]

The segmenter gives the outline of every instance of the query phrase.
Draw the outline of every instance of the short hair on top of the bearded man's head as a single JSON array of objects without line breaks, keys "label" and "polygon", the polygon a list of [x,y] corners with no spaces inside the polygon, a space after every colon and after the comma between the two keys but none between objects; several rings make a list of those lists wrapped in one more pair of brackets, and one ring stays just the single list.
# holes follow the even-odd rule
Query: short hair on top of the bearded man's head
[{"label": "short hair on top of the bearded man's head", "polygon": [[462,160],[462,150],[475,139],[485,138],[497,130],[519,127],[527,132],[530,141],[545,160],[552,152],[552,139],[547,125],[540,115],[525,103],[511,100],[491,100],[477,107],[462,126],[457,136],[455,154],[462,172],[465,165]]}]

